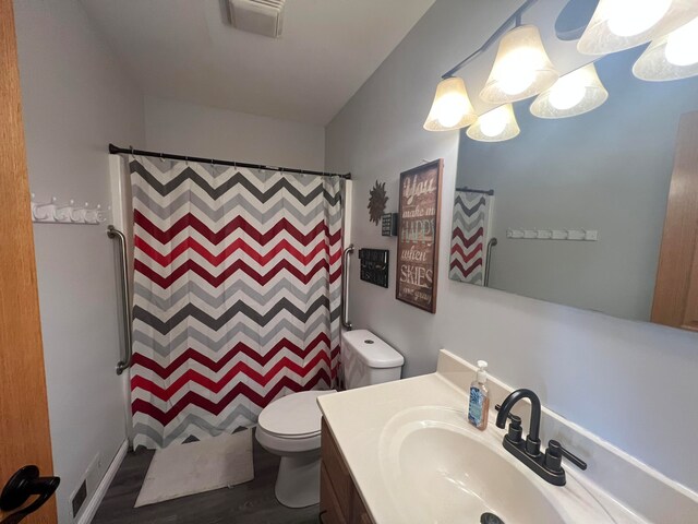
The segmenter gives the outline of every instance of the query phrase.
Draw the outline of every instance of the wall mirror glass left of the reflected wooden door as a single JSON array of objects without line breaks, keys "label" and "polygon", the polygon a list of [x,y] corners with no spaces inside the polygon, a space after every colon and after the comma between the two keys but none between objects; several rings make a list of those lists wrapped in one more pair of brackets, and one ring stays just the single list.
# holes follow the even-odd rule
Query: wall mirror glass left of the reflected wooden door
[{"label": "wall mirror glass left of the reflected wooden door", "polygon": [[642,50],[595,62],[609,99],[591,112],[540,119],[531,98],[514,106],[513,140],[461,130],[452,279],[650,321],[679,120],[698,110],[698,79],[636,79]]}]

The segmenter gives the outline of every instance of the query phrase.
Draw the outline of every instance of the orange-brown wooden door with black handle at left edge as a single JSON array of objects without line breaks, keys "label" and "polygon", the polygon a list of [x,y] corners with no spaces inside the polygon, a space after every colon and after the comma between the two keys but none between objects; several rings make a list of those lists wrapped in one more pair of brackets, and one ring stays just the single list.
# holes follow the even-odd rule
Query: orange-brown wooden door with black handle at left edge
[{"label": "orange-brown wooden door with black handle at left edge", "polygon": [[[52,473],[14,13],[0,0],[0,489],[26,465]],[[51,498],[22,522],[56,520]]]}]

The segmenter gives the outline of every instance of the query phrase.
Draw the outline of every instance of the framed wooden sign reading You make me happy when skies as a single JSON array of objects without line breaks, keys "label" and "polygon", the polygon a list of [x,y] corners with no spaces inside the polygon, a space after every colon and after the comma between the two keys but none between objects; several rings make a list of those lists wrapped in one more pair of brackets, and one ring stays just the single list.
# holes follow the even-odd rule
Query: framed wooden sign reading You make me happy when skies
[{"label": "framed wooden sign reading You make me happy when skies", "polygon": [[400,174],[395,298],[436,312],[441,178],[438,159]]}]

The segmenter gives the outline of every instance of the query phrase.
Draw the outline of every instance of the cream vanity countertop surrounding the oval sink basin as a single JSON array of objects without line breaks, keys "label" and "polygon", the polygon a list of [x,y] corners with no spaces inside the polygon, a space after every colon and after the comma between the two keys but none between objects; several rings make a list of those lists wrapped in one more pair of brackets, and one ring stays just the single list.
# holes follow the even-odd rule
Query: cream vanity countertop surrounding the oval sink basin
[{"label": "cream vanity countertop surrounding the oval sink basin", "polygon": [[[409,493],[397,492],[395,487],[386,481],[385,473],[381,467],[381,463],[385,458],[381,455],[381,438],[384,428],[390,420],[406,410],[436,407],[448,410],[456,424],[461,421],[464,426],[468,426],[466,391],[457,388],[441,373],[323,395],[317,400],[317,403],[375,524],[407,522],[401,512],[400,497],[409,496]],[[491,407],[493,405],[494,402]],[[492,410],[489,427],[480,434],[489,439],[493,445],[497,445],[497,443],[501,445],[504,430],[494,425],[495,415],[495,412]],[[525,427],[527,426],[528,424],[525,422]],[[514,456],[510,458],[518,463]],[[603,507],[604,516],[610,516],[607,522],[647,522],[624,509],[623,505],[585,479],[582,474],[574,472],[574,466],[565,466],[568,477],[567,486],[556,487],[540,479],[525,465],[518,464],[521,471],[530,475],[532,481],[540,483],[540,485],[535,485],[537,489],[549,495],[554,493],[555,500],[559,501],[561,507],[565,507],[568,516],[571,515],[573,519],[579,516],[573,522],[585,522],[585,520],[590,522],[589,515],[591,513],[585,513],[583,508],[581,513],[577,514],[575,514],[577,509],[574,508],[574,504],[573,509],[569,509],[570,501],[579,504],[582,491],[586,492],[583,497],[588,498],[590,495]],[[425,467],[429,467],[429,464],[425,464]],[[477,519],[479,520],[479,515]],[[472,522],[478,522],[478,520]]]}]

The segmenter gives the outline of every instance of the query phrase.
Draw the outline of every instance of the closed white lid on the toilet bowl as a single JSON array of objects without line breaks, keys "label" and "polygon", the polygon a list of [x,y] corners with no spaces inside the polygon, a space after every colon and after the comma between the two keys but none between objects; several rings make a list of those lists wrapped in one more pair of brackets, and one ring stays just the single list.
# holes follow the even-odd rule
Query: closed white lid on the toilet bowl
[{"label": "closed white lid on the toilet bowl", "polygon": [[317,397],[330,391],[302,391],[274,401],[262,409],[258,424],[262,429],[279,437],[299,438],[320,432],[322,413]]}]

